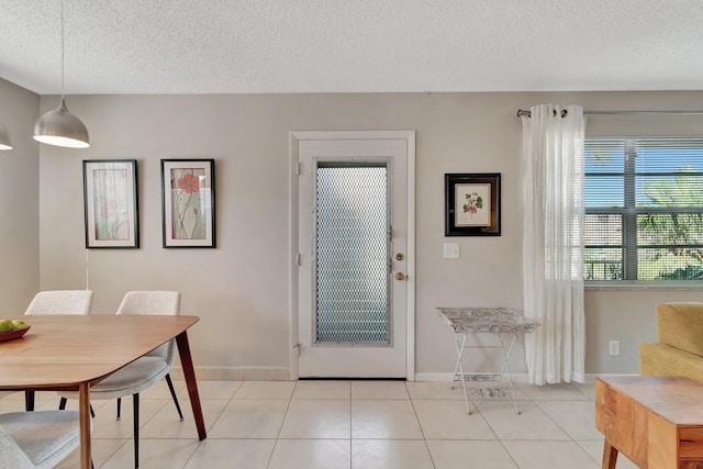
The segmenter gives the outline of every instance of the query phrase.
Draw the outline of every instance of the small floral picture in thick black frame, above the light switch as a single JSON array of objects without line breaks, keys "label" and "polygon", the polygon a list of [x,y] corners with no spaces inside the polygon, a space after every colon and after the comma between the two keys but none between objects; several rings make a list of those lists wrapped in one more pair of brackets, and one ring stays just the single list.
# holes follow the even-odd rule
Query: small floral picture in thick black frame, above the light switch
[{"label": "small floral picture in thick black frame, above the light switch", "polygon": [[445,236],[501,235],[501,175],[444,175]]}]

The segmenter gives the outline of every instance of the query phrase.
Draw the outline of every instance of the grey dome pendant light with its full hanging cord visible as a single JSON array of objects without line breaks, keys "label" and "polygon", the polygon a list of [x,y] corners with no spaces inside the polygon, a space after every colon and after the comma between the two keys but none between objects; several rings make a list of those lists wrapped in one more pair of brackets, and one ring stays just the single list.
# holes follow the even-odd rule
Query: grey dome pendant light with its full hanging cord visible
[{"label": "grey dome pendant light with its full hanging cord visible", "polygon": [[88,129],[68,112],[64,99],[64,0],[62,0],[62,102],[53,111],[44,113],[34,124],[34,139],[48,145],[69,148],[88,148]]}]

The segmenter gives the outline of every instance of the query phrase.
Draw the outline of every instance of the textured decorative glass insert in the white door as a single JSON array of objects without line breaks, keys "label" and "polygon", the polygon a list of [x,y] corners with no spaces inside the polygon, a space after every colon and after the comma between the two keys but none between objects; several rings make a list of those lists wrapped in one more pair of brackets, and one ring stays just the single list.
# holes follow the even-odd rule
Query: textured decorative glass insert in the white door
[{"label": "textured decorative glass insert in the white door", "polygon": [[388,164],[317,161],[315,176],[315,344],[388,345]]}]

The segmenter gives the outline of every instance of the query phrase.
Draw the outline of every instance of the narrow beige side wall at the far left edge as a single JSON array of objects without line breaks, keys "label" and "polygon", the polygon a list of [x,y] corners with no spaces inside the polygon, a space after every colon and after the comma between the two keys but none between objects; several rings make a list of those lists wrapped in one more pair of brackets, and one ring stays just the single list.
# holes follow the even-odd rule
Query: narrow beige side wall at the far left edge
[{"label": "narrow beige side wall at the far left edge", "polygon": [[0,152],[0,316],[24,310],[40,286],[38,96],[0,79],[0,123],[14,149]]}]

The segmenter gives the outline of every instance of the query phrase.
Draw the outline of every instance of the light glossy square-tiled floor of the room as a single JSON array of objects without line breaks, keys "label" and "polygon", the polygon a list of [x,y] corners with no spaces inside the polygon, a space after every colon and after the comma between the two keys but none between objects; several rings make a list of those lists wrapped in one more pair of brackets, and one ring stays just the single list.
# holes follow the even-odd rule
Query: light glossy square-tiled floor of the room
[{"label": "light glossy square-tiled floor of the room", "polygon": [[[594,386],[517,384],[512,402],[475,401],[460,388],[401,381],[199,381],[208,438],[199,442],[182,381],[186,416],[166,383],[141,394],[142,469],[598,469]],[[0,412],[24,409],[23,393],[0,394]],[[55,409],[55,393],[36,395]],[[133,467],[132,399],[115,421],[113,401],[93,402],[96,468]],[[69,403],[74,405],[75,402]],[[58,468],[78,467],[75,453]],[[624,456],[618,469],[635,466]]]}]

